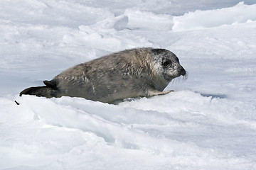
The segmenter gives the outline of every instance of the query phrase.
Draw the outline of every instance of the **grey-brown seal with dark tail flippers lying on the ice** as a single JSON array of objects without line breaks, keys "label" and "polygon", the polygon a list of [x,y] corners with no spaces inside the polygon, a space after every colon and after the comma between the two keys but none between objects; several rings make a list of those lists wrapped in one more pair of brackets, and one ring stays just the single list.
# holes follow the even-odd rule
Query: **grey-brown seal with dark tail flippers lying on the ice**
[{"label": "grey-brown seal with dark tail flippers lying on the ice", "polygon": [[46,98],[71,96],[92,101],[113,101],[168,94],[172,79],[186,76],[176,55],[165,49],[134,48],[78,64],[61,72],[46,86],[30,87],[23,94]]}]

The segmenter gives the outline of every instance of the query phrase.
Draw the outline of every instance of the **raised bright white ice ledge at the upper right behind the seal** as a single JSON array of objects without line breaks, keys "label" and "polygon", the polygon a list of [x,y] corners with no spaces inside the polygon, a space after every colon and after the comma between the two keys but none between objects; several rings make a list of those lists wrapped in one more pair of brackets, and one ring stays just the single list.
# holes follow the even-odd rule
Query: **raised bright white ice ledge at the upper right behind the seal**
[{"label": "raised bright white ice ledge at the upper right behind the seal", "polygon": [[174,17],[173,30],[191,30],[212,28],[234,23],[246,23],[256,20],[254,5],[245,5],[240,2],[230,8],[221,8],[208,11],[195,11]]}]

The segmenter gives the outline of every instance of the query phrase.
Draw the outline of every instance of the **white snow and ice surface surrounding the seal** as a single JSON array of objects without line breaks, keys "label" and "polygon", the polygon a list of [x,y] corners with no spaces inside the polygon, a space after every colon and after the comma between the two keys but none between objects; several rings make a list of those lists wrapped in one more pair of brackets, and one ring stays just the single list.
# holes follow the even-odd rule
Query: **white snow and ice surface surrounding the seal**
[{"label": "white snow and ice surface surrounding the seal", "polygon": [[[256,169],[254,0],[4,0],[0,11],[0,169]],[[18,96],[132,47],[173,51],[188,79],[117,105]]]}]

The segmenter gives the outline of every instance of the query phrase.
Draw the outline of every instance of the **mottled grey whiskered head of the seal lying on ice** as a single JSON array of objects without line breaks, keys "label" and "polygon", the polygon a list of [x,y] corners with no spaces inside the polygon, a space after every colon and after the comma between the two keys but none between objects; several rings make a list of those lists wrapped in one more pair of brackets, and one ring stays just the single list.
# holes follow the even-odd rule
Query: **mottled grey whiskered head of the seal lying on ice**
[{"label": "mottled grey whiskered head of the seal lying on ice", "polygon": [[165,49],[152,49],[154,57],[154,69],[156,74],[166,81],[180,76],[186,76],[186,70],[181,66],[178,57]]}]

